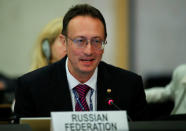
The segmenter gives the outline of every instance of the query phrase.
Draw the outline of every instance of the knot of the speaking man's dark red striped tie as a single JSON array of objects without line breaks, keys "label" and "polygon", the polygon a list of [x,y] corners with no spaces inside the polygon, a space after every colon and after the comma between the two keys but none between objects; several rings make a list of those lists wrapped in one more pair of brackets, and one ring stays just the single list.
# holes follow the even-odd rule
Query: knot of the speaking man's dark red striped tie
[{"label": "knot of the speaking man's dark red striped tie", "polygon": [[90,87],[85,84],[79,84],[74,88],[77,91],[77,93],[79,94],[79,97],[85,97],[90,89]]}]

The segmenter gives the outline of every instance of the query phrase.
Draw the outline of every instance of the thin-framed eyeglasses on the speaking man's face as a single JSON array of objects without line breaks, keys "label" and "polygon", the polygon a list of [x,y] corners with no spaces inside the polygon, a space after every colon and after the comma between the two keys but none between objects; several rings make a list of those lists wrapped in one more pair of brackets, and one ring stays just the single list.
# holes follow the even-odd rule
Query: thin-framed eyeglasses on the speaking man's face
[{"label": "thin-framed eyeglasses on the speaking man's face", "polygon": [[88,45],[88,43],[90,42],[91,46],[93,46],[94,49],[103,50],[105,45],[107,44],[107,41],[103,41],[99,37],[95,37],[90,40],[88,40],[86,37],[77,37],[74,39],[72,39],[68,36],[66,36],[66,37],[68,39],[70,39],[77,48],[85,48]]}]

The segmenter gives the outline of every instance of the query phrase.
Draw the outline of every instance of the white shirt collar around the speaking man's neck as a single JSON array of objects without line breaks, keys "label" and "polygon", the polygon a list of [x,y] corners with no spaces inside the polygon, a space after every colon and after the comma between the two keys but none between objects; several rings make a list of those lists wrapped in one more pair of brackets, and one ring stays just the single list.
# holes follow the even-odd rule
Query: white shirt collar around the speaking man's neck
[{"label": "white shirt collar around the speaking man's neck", "polygon": [[[69,84],[70,89],[73,89],[78,84],[82,84],[74,76],[72,76],[71,73],[69,72],[69,70],[68,70],[68,57],[66,59],[66,72],[67,72],[67,80],[68,80],[68,84]],[[91,78],[83,84],[86,84],[89,87],[91,87],[92,89],[96,90],[97,74],[98,74],[98,69],[96,67],[94,74],[91,76]]]}]

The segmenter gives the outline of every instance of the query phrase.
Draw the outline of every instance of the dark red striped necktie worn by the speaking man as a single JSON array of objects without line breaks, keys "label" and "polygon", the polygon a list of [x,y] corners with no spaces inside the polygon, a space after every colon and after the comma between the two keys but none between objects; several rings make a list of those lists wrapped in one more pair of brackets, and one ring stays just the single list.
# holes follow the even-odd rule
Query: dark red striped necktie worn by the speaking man
[{"label": "dark red striped necktie worn by the speaking man", "polygon": [[87,101],[86,101],[86,95],[87,95],[90,87],[87,85],[79,84],[74,88],[79,95],[79,102],[80,102],[80,104],[78,102],[76,102],[75,110],[76,111],[89,111],[90,109],[89,109]]}]

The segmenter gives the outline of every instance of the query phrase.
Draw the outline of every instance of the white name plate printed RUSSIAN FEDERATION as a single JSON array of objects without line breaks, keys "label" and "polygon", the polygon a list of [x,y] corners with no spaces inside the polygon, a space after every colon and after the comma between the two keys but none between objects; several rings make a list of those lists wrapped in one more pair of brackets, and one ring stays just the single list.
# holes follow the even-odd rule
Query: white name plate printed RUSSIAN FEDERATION
[{"label": "white name plate printed RUSSIAN FEDERATION", "polygon": [[128,131],[126,111],[52,112],[53,131]]}]

